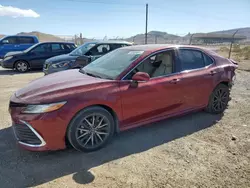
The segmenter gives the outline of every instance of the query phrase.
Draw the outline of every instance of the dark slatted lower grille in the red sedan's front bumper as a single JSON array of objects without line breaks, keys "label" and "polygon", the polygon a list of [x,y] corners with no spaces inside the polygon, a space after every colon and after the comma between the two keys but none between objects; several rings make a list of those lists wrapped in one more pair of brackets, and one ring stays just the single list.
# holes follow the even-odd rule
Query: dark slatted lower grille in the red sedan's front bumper
[{"label": "dark slatted lower grille in the red sedan's front bumper", "polygon": [[13,128],[18,141],[33,145],[41,144],[41,140],[27,125],[15,124]]}]

